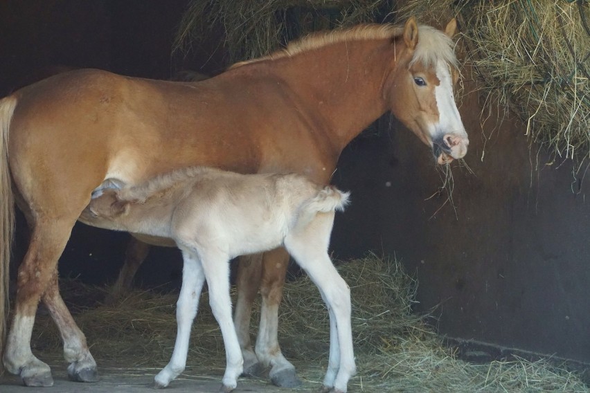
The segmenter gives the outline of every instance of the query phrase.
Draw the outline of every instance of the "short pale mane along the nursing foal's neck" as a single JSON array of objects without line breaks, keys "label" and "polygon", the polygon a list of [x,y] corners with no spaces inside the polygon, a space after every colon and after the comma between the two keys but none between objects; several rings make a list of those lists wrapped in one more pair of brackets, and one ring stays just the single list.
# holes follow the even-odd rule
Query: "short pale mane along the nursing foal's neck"
[{"label": "short pale mane along the nursing foal's neck", "polygon": [[121,188],[118,192],[118,198],[122,201],[138,201],[139,203],[144,203],[148,198],[156,194],[163,194],[187,179],[203,179],[210,174],[219,176],[219,174],[223,173],[226,172],[211,167],[184,167],[161,174],[144,183]]}]

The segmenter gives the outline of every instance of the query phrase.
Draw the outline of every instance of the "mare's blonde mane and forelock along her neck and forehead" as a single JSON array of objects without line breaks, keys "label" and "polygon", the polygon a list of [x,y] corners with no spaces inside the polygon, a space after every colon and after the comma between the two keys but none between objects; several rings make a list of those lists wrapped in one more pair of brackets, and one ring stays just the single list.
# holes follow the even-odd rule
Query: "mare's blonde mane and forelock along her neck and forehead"
[{"label": "mare's blonde mane and forelock along her neck and forehead", "polygon": [[[262,57],[233,64],[231,68],[265,60],[278,60],[283,57],[293,57],[299,53],[313,51],[330,44],[350,42],[362,39],[395,39],[404,33],[404,26],[392,24],[361,24],[351,28],[338,28],[329,32],[311,33],[306,37],[289,42],[287,46],[274,53]],[[442,31],[431,26],[418,26],[418,45],[415,48],[411,64],[421,62],[424,66],[432,66],[438,60],[457,66],[453,40]]]}]

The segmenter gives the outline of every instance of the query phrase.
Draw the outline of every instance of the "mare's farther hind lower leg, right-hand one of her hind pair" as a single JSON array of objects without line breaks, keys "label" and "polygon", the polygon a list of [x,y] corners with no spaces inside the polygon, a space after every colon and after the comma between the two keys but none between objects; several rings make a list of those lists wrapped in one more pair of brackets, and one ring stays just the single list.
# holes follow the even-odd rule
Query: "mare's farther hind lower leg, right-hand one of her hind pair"
[{"label": "mare's farther hind lower leg, right-hand one of her hind pair", "polygon": [[96,361],[88,349],[86,337],[75,324],[60,295],[57,271],[53,274],[42,300],[62,336],[64,358],[70,363],[68,366],[69,378],[77,382],[98,381]]}]

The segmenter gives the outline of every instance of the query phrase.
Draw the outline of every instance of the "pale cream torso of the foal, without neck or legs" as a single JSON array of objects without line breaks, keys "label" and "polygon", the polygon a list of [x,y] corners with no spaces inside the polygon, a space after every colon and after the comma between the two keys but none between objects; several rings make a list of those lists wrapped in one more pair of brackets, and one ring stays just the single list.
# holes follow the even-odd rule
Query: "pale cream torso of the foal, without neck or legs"
[{"label": "pale cream torso of the foal, without neck or legs", "polygon": [[171,228],[178,238],[217,244],[230,257],[283,244],[301,209],[322,189],[298,174],[216,174],[188,186]]}]

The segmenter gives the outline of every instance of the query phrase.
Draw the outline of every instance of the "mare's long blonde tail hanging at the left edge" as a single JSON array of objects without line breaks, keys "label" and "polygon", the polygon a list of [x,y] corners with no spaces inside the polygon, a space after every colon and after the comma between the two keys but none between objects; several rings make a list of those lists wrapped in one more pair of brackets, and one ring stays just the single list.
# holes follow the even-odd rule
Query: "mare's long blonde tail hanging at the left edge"
[{"label": "mare's long blonde tail hanging at the left edge", "polygon": [[[12,113],[17,106],[13,95],[0,100],[0,355],[6,342],[8,320],[8,266],[12,237],[15,232],[15,196],[12,193],[10,168],[8,167],[8,129]],[[1,356],[0,356],[1,358]],[[0,371],[3,369],[0,362]]]}]

